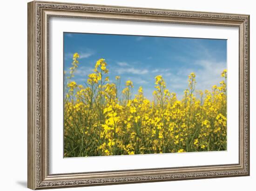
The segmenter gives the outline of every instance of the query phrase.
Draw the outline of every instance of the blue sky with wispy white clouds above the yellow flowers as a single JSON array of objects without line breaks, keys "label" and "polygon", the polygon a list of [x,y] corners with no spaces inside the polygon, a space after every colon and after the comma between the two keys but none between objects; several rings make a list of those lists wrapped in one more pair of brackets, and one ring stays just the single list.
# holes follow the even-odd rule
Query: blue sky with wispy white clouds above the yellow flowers
[{"label": "blue sky with wispy white clouds above the yellow flowers", "polygon": [[121,76],[122,87],[132,80],[133,92],[142,86],[151,100],[156,75],[162,75],[169,91],[182,99],[189,73],[195,72],[196,89],[211,89],[222,80],[221,72],[227,66],[226,40],[64,33],[65,71],[71,67],[76,52],[80,54],[74,77],[78,84],[83,84],[96,61],[104,58],[110,80]]}]

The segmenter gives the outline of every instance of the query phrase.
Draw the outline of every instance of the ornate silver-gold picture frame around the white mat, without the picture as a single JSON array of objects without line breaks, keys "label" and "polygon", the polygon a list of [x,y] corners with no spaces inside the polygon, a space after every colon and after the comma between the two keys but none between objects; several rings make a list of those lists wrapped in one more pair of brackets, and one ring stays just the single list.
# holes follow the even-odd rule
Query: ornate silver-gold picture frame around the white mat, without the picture
[{"label": "ornate silver-gold picture frame around the white mat, without the picture", "polygon": [[[239,163],[49,174],[48,21],[50,17],[238,27]],[[249,15],[43,1],[28,3],[28,188],[35,190],[234,176],[249,176]]]}]

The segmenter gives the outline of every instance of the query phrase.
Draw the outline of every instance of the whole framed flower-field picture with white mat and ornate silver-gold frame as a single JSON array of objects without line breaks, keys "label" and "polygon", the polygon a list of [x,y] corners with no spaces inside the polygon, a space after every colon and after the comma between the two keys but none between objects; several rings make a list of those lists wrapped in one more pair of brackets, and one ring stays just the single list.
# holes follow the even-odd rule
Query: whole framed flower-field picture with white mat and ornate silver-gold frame
[{"label": "whole framed flower-field picture with white mat and ornate silver-gold frame", "polygon": [[249,176],[249,15],[28,3],[28,188]]}]

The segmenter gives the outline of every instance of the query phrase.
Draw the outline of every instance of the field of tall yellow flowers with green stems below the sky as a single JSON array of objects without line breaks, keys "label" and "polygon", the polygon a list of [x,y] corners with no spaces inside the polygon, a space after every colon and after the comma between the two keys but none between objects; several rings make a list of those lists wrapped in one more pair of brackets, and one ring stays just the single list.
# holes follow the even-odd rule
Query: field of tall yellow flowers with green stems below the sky
[{"label": "field of tall yellow flowers with green stems below the sky", "polygon": [[96,62],[86,83],[77,84],[72,78],[78,59],[74,53],[65,87],[64,157],[226,150],[226,70],[220,85],[205,92],[195,89],[192,72],[182,100],[158,75],[149,101],[142,87],[132,95],[130,80],[122,90],[120,76],[110,83],[104,59]]}]

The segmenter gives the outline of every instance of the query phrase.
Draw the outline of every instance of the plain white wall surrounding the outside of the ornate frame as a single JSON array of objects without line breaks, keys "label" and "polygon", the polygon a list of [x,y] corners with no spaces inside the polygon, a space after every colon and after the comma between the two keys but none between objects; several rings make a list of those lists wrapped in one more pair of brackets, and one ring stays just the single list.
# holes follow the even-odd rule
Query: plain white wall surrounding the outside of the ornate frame
[{"label": "plain white wall surrounding the outside of the ornate frame", "polygon": [[[175,10],[250,14],[250,177],[215,178],[86,188],[83,191],[119,190],[255,190],[256,181],[256,12],[250,0],[61,0],[63,2],[152,7]],[[1,1],[0,10],[0,190],[27,189],[27,0]]]}]

